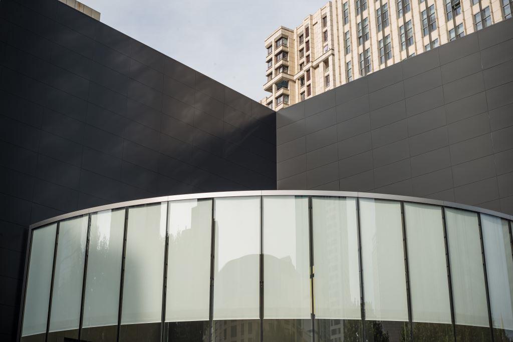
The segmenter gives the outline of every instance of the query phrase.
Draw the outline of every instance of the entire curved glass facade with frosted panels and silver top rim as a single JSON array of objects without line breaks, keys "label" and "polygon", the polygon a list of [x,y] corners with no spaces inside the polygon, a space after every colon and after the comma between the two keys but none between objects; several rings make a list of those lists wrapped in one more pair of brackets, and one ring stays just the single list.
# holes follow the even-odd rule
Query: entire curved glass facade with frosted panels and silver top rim
[{"label": "entire curved glass facade with frosted panels and silver top rim", "polygon": [[171,196],[36,225],[21,340],[513,341],[511,217],[372,196]]}]

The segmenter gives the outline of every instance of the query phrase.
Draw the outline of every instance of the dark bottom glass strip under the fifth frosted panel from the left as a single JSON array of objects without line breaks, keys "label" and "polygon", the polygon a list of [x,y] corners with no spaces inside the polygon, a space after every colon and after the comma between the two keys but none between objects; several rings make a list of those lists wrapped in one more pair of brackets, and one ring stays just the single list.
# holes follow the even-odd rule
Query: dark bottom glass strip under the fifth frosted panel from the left
[{"label": "dark bottom glass strip under the fifth frosted panel from the left", "polygon": [[164,323],[164,342],[209,342],[209,321]]}]

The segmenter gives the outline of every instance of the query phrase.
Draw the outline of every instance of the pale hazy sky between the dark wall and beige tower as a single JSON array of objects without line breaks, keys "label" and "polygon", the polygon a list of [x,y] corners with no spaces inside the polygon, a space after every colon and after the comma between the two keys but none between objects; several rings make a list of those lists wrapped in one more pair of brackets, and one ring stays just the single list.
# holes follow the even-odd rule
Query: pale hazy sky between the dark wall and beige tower
[{"label": "pale hazy sky between the dark wall and beige tower", "polygon": [[224,85],[260,100],[269,93],[264,41],[293,29],[328,0],[80,0],[101,21]]}]

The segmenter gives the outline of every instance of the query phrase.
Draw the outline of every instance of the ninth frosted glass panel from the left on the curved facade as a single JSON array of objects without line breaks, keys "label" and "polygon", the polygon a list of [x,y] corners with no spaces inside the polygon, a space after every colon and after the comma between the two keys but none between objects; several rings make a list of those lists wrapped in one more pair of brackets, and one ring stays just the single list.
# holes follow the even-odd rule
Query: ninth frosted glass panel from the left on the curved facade
[{"label": "ninth frosted glass panel from the left on the curved facade", "polygon": [[399,202],[360,199],[365,319],[408,320]]}]

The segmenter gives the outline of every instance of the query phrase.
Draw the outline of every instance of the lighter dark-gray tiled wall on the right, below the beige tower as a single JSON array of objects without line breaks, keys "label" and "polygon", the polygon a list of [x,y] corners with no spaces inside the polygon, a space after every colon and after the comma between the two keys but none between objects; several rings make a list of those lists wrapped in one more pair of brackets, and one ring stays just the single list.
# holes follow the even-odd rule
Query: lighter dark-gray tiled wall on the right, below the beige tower
[{"label": "lighter dark-gray tiled wall on the right, below the beige tower", "polygon": [[513,21],[277,113],[278,189],[513,213]]}]

